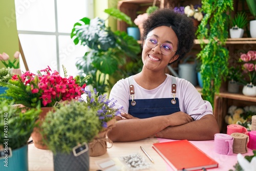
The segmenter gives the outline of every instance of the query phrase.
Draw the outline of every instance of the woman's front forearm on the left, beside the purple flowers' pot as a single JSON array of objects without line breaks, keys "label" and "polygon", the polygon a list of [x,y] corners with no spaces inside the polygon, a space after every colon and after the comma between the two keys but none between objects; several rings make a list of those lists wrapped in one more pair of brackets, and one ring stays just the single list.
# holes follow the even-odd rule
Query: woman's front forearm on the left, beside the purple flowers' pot
[{"label": "woman's front forearm on the left, beside the purple flowers' pot", "polygon": [[148,138],[169,126],[165,116],[146,119],[125,119],[116,122],[108,133],[108,138],[115,141],[137,141]]}]

